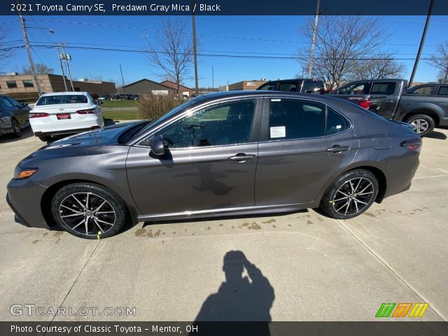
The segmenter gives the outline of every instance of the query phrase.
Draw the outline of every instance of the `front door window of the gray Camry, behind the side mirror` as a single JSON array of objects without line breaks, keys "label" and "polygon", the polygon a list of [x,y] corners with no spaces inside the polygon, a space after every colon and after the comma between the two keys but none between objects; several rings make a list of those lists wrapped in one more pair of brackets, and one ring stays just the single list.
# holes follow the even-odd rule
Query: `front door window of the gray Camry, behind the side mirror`
[{"label": "front door window of the gray Camry, behind the side mirror", "polygon": [[162,135],[168,148],[244,144],[251,136],[254,114],[255,99],[225,102],[196,111],[156,135]]}]

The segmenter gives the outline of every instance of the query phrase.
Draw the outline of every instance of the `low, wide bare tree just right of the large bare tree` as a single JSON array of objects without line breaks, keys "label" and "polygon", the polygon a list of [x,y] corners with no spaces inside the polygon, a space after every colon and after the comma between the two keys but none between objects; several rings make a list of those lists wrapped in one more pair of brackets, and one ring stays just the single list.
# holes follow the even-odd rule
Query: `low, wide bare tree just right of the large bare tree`
[{"label": "low, wide bare tree just right of the large bare tree", "polygon": [[398,63],[391,55],[381,55],[380,59],[360,61],[350,76],[350,80],[402,78],[405,64]]}]

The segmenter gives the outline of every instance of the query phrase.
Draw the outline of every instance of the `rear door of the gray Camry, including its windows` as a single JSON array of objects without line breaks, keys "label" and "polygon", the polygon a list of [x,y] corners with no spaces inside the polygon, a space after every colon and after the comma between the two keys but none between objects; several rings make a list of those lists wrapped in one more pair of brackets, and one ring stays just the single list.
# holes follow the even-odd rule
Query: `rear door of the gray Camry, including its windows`
[{"label": "rear door of the gray Camry, including its windows", "polygon": [[358,150],[349,120],[313,100],[270,98],[264,106],[255,206],[316,200]]}]

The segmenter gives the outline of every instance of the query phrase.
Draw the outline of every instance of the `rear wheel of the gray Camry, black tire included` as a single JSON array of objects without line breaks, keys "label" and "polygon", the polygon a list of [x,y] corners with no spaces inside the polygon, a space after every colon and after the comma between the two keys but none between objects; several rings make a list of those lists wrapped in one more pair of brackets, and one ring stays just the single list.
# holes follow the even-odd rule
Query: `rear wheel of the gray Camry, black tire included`
[{"label": "rear wheel of the gray Camry, black tire included", "polygon": [[349,219],[369,209],[378,195],[378,179],[365,169],[339,176],[322,197],[320,208],[328,216]]}]

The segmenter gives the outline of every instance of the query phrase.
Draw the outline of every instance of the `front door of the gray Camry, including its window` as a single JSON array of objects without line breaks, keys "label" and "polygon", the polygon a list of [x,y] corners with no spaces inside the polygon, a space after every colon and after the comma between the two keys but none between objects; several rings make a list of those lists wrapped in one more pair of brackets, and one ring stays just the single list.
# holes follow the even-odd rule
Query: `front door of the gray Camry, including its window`
[{"label": "front door of the gray Camry, including its window", "polygon": [[[130,148],[127,176],[142,214],[215,211],[254,204],[262,99],[232,99],[190,111]],[[162,135],[165,157],[151,158]]]}]

